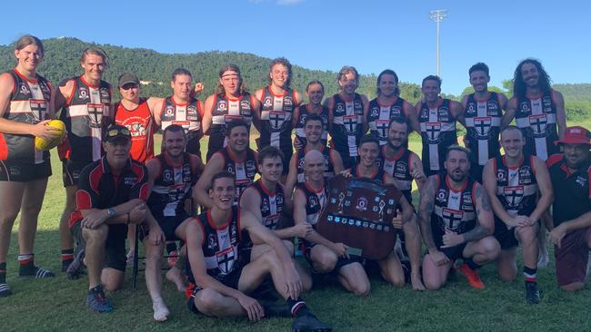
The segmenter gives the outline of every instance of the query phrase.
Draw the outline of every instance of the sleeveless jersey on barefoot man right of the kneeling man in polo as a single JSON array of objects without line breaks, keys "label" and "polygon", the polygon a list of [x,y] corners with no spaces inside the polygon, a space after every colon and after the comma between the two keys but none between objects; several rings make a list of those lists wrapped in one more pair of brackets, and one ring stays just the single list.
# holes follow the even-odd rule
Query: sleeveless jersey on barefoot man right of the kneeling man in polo
[{"label": "sleeveless jersey on barefoot man right of the kneeling man in polo", "polygon": [[196,165],[188,152],[184,152],[183,163],[179,166],[171,165],[165,153],[155,158],[160,162],[160,174],[154,181],[147,205],[156,219],[175,217],[185,209],[185,199],[191,197],[191,189],[198,179]]}]

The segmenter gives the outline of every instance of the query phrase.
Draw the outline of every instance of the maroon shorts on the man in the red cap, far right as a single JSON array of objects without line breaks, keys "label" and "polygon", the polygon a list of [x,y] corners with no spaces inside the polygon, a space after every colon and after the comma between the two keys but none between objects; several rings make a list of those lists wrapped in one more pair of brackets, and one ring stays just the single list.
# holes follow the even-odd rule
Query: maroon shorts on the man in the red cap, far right
[{"label": "maroon shorts on the man in the red cap, far right", "polygon": [[589,239],[591,239],[591,227],[577,229],[566,234],[562,239],[561,248],[554,247],[558,286],[585,282]]}]

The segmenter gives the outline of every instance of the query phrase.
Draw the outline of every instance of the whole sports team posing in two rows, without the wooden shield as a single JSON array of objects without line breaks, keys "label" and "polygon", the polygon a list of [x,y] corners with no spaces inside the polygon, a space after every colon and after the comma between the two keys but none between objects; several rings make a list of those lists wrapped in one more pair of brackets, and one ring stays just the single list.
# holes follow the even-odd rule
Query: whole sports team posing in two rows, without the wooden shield
[{"label": "whole sports team posing in two rows, without the wooden shield", "polygon": [[[42,42],[25,35],[15,42],[15,69],[0,75],[0,297],[12,294],[5,262],[19,214],[18,277],[55,276],[34,260],[52,174],[49,152],[36,149],[35,138],[59,136],[46,125],[52,119],[66,132],[57,148],[66,198],[62,269],[68,278],[87,275],[86,304],[96,312],[114,309],[105,290],[122,287],[139,245],[156,321],[170,315],[165,277],[198,315],[293,317],[295,331],[329,331],[302,293],[334,282],[366,296],[373,274],[395,287],[436,290],[461,273],[470,287],[485,288],[478,269],[488,263],[503,280],[517,277],[518,246],[524,298],[536,304],[546,240],[555,247],[558,287],[585,286],[591,135],[566,127],[562,94],[535,59],[517,65],[510,99],[489,91],[488,67],[476,63],[468,71],[474,93],[461,103],[440,97],[436,75],[423,80],[421,101],[408,103],[392,70],[377,76],[369,101],[356,93],[352,66],[337,74],[333,96],[325,98],[323,83],[308,83],[306,103],[290,87],[291,64],[277,58],[268,85],[255,93],[227,64],[205,102],[196,98],[203,84],[178,68],[166,98],[141,96],[135,74],[122,73],[115,103],[102,49],[85,49],[82,74],[55,86],[36,72],[44,54]],[[463,145],[457,122],[466,128]],[[411,132],[420,134],[420,158],[408,149]],[[363,259],[316,231],[336,175],[402,192],[392,220],[396,247],[385,259]],[[299,250],[307,266],[294,259]]]}]

